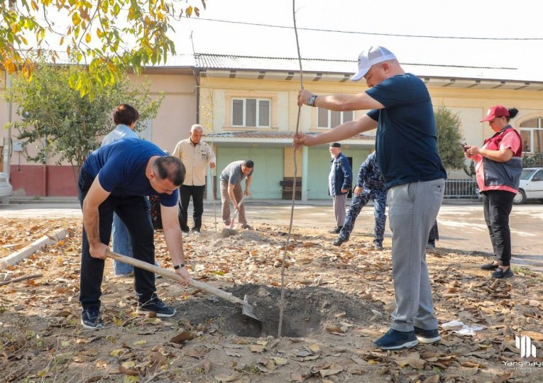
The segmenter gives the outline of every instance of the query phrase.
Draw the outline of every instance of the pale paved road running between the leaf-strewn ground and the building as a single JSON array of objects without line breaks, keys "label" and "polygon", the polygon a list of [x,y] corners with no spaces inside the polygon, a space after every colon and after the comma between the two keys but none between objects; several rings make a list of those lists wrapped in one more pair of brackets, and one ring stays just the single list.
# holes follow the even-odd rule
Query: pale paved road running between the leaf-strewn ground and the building
[{"label": "pale paved road running between the leaf-strewn ground and the building", "polygon": [[[2,217],[80,217],[77,202],[70,204],[12,203],[0,205]],[[288,226],[290,223],[290,201],[246,202],[246,216],[249,223],[274,223]],[[206,202],[204,225],[213,227],[216,219],[221,222],[221,204]],[[439,216],[439,248],[451,250],[492,252],[488,229],[483,218],[483,207],[478,201],[445,200]],[[304,228],[331,228],[334,225],[331,201],[311,201],[295,204],[294,226]],[[527,265],[533,270],[543,272],[543,204],[513,206],[510,216],[512,228],[512,252],[515,265]],[[220,227],[220,226],[219,226]],[[373,235],[373,206],[362,209],[356,221],[353,235]],[[385,231],[390,237],[390,231]]]}]

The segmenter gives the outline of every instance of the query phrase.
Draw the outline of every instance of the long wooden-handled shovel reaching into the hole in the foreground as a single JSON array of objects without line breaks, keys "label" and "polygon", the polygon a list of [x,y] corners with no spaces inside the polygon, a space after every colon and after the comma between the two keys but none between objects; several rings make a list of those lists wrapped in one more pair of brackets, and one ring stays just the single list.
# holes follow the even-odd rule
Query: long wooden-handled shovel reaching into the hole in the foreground
[{"label": "long wooden-handled shovel reaching into the hole in the foreground", "polygon": [[[166,270],[166,269],[163,269],[162,267],[151,265],[150,263],[143,262],[141,260],[136,260],[132,257],[126,257],[126,255],[121,255],[121,254],[117,254],[116,252],[106,250],[106,256],[110,257],[113,260],[128,263],[128,265],[132,265],[135,267],[139,267],[140,269],[147,270],[148,272],[154,272],[155,274],[159,274],[159,275],[162,275],[163,277],[173,279],[177,282],[181,280],[180,275],[175,274],[175,272],[172,272],[171,270]],[[189,279],[189,286],[195,287],[196,289],[200,289],[209,294],[213,294],[214,296],[219,296],[219,298],[224,299],[225,301],[229,301],[230,303],[241,307],[241,311],[243,312],[243,315],[250,316],[251,318],[260,322],[260,319],[258,319],[253,313],[254,308],[248,303],[247,296],[245,296],[244,300],[242,301],[237,296],[234,296],[231,293],[224,292],[223,290],[217,289],[216,287],[213,287],[210,284],[205,284],[204,282],[199,282],[192,278]]]}]

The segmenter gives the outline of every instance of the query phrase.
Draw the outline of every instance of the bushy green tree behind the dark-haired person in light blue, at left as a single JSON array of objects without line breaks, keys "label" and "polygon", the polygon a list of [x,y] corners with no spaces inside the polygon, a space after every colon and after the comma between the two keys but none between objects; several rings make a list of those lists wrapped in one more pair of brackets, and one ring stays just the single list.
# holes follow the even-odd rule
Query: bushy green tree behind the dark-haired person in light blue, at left
[{"label": "bushy green tree behind the dark-haired person in light blue, at left", "polygon": [[[33,162],[45,163],[50,157],[55,162],[70,162],[78,169],[92,150],[99,147],[99,139],[114,128],[112,111],[119,104],[131,104],[140,113],[138,126],[154,118],[164,96],[150,98],[150,84],[132,85],[128,77],[120,77],[113,84],[95,86],[93,94],[80,96],[79,91],[67,86],[67,79],[85,75],[80,65],[38,65],[31,81],[22,76],[13,78],[11,92],[6,99],[18,105],[17,113],[23,121],[11,123],[23,144],[35,145],[36,155],[28,155]],[[92,96],[92,97],[91,97]]]}]

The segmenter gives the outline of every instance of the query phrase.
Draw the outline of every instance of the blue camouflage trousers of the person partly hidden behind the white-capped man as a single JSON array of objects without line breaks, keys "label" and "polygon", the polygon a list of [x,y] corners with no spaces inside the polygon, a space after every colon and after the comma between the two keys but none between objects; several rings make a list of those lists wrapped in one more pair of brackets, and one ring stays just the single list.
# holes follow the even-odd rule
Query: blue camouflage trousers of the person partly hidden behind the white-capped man
[{"label": "blue camouflage trousers of the person partly hidden behind the white-capped man", "polygon": [[385,215],[385,208],[387,204],[387,192],[385,190],[367,190],[364,189],[363,193],[359,196],[353,195],[353,200],[351,201],[351,206],[349,206],[349,211],[347,212],[347,218],[345,218],[345,223],[343,228],[339,232],[339,238],[342,240],[348,240],[351,235],[351,231],[354,228],[354,222],[356,217],[360,214],[360,211],[368,201],[373,199],[373,204],[375,204],[375,227],[373,228],[373,235],[375,239],[373,243],[375,245],[383,245],[383,235],[385,234],[385,223],[387,216]]}]

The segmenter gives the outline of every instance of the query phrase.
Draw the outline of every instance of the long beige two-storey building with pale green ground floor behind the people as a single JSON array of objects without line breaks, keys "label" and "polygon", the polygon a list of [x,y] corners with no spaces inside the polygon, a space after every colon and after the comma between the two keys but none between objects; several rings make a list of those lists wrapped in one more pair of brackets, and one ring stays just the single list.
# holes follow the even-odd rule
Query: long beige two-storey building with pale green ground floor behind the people
[{"label": "long beige two-storey building with pale green ground floor behind the people", "polygon": [[[543,81],[531,81],[508,68],[402,66],[424,80],[434,106],[444,105],[458,113],[466,143],[480,145],[491,135],[488,123],[479,121],[490,106],[503,104],[520,111],[513,125],[520,130],[525,151],[543,150]],[[356,70],[355,61],[302,60],[302,67],[303,87],[315,94],[356,93],[366,89],[363,81],[349,81]],[[256,199],[291,198],[295,176],[292,135],[297,128],[318,133],[366,113],[331,112],[304,106],[298,124],[297,92],[301,82],[297,59],[194,55],[181,65],[155,67],[144,74],[152,82],[152,91],[163,91],[165,99],[142,137],[171,151],[178,140],[188,137],[193,123],[202,124],[204,140],[217,155],[216,171],[209,175],[216,177],[216,172],[234,160],[253,160],[251,189]],[[0,108],[3,126],[8,119],[6,111],[4,104]],[[350,158],[354,172],[373,150],[373,133],[343,143],[342,152]],[[7,131],[0,134],[6,143]],[[11,139],[17,141],[15,132],[11,132]],[[329,160],[327,146],[297,152],[299,198],[328,198]],[[74,177],[66,177],[72,173],[69,167],[53,164],[53,159],[47,165],[28,163],[23,152],[13,151],[10,167],[13,194],[75,195]],[[449,176],[466,177],[463,172]],[[214,195],[212,188],[213,184],[208,182],[209,198]]]}]

